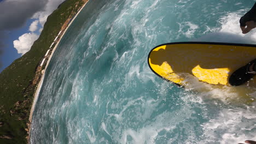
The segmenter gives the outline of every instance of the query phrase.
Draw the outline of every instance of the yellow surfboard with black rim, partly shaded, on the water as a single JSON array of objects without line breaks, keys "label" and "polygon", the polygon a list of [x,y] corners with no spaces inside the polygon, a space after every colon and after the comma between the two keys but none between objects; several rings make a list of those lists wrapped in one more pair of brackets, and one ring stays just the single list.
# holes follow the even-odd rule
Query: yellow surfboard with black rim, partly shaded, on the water
[{"label": "yellow surfboard with black rim, partly shaded, on the water", "polygon": [[[148,64],[156,75],[180,86],[187,83],[186,76],[190,75],[211,85],[231,87],[229,76],[255,58],[256,45],[183,42],[154,47]],[[245,85],[256,88],[255,79],[256,76]]]}]

